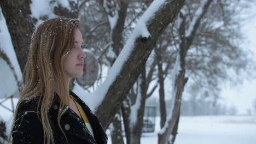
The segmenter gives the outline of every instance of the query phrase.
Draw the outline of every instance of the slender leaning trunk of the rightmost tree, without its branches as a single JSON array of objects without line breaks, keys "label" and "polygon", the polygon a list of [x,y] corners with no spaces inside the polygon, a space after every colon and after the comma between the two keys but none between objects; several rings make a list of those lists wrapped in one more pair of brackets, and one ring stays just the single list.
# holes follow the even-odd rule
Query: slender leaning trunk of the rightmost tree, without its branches
[{"label": "slender leaning trunk of the rightmost tree, without its branches", "polygon": [[[180,107],[181,107],[181,97],[183,93],[183,89],[185,86],[185,83],[187,83],[188,78],[185,77],[185,57],[187,55],[187,51],[189,47],[191,46],[194,35],[197,31],[197,28],[200,25],[200,21],[203,17],[203,15],[206,13],[208,7],[210,6],[210,3],[212,1],[203,1],[202,6],[198,9],[198,12],[196,12],[195,16],[193,17],[193,21],[190,24],[190,27],[188,29],[188,33],[185,33],[185,19],[183,19],[183,22],[181,23],[181,27],[179,29],[179,35],[181,35],[181,43],[179,45],[179,53],[176,58],[176,63],[174,66],[174,77],[173,79],[173,109],[171,110],[172,112],[170,113],[170,116],[168,116],[167,121],[163,121],[161,124],[161,132],[158,134],[158,143],[173,143],[174,139],[177,134],[177,127],[178,127],[178,122],[179,122],[179,113],[180,113]],[[164,103],[164,99],[160,99],[162,104]],[[163,105],[165,106],[165,105]],[[165,107],[160,108],[161,110],[161,115],[166,115]],[[162,114],[163,113],[163,114]],[[162,118],[162,117],[161,117]],[[172,135],[171,139],[169,138]]]}]

